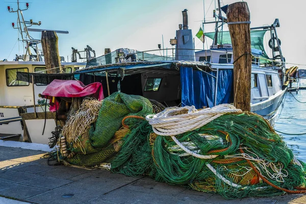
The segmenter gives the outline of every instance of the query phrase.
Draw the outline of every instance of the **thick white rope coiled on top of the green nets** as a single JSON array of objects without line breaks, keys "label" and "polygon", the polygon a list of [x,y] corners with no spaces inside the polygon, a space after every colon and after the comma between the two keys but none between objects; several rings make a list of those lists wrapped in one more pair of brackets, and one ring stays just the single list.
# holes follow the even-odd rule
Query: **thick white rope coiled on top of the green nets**
[{"label": "thick white rope coiled on top of the green nets", "polygon": [[[186,114],[180,114],[186,111]],[[223,114],[237,112],[241,112],[241,110],[236,109],[233,105],[230,104],[222,104],[213,108],[202,109],[199,111],[196,110],[194,106],[185,106],[181,108],[170,107],[166,108],[160,113],[157,113],[156,115],[147,115],[146,120],[149,121],[150,125],[152,125],[152,130],[157,135],[171,136],[177,146],[181,147],[188,155],[200,159],[213,159],[218,157],[218,155],[200,155],[198,154],[198,150],[195,150],[194,148],[189,149],[185,145],[190,146],[190,144],[185,143],[184,145],[175,138],[175,135],[180,135],[192,130],[196,130]],[[209,137],[212,138],[214,136]]]}]

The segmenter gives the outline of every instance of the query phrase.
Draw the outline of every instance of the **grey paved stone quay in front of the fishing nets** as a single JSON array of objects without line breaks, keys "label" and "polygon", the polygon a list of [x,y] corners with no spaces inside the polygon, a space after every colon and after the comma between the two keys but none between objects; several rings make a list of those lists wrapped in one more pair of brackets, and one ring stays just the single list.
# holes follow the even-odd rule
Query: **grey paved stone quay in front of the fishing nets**
[{"label": "grey paved stone quay in front of the fishing nets", "polygon": [[147,176],[49,166],[42,158],[46,151],[43,145],[0,141],[0,203],[306,203],[303,194],[227,200]]}]

